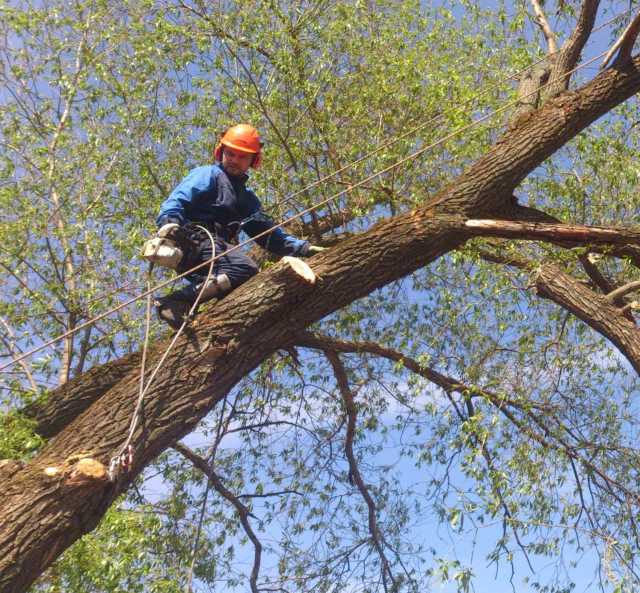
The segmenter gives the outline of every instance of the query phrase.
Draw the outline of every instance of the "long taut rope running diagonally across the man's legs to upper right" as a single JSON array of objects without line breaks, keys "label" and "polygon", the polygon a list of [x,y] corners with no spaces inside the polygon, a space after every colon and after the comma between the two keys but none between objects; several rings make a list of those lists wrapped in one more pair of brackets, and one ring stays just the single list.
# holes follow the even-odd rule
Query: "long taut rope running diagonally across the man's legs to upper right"
[{"label": "long taut rope running diagonally across the man's legs to upper right", "polygon": [[[596,60],[600,59],[601,57],[603,57],[608,50],[605,50],[603,52],[601,52],[600,54],[598,54],[597,56],[591,58],[590,60],[579,64],[578,66],[576,66],[575,68],[569,70],[568,72],[566,72],[565,74],[563,74],[563,78],[566,78],[568,76],[570,76],[571,74],[581,70],[582,68],[586,68],[587,66],[591,65],[593,62],[595,62]],[[310,206],[309,208],[306,208],[305,210],[298,212],[297,214],[283,220],[282,222],[274,225],[273,227],[271,227],[269,230],[264,231],[262,233],[259,233],[257,235],[255,235],[254,237],[251,237],[245,241],[242,241],[240,243],[238,243],[237,245],[234,245],[233,247],[231,247],[230,249],[228,249],[227,251],[221,253],[218,256],[215,256],[215,258],[211,261],[215,261],[223,256],[225,256],[228,253],[231,253],[233,251],[235,251],[236,249],[240,249],[241,247],[255,241],[256,239],[259,239],[263,236],[266,236],[268,234],[270,234],[272,231],[281,228],[291,222],[293,222],[294,220],[297,220],[299,218],[302,218],[303,216],[305,216],[306,214],[309,214],[310,212],[313,212],[319,208],[321,208],[322,206],[325,206],[326,204],[335,201],[337,198],[347,195],[349,193],[351,193],[354,189],[357,189],[359,187],[362,187],[363,185],[367,184],[368,182],[372,181],[373,179],[376,179],[378,177],[380,177],[381,175],[384,175],[385,173],[388,173],[394,169],[397,169],[398,167],[400,167],[401,165],[403,165],[404,163],[414,160],[416,159],[418,156],[424,154],[425,152],[432,150],[433,148],[436,148],[437,146],[443,144],[444,142],[446,142],[447,140],[450,140],[460,134],[462,134],[463,132],[466,132],[467,130],[470,130],[476,126],[478,126],[479,124],[483,123],[484,121],[500,114],[503,113],[504,111],[506,111],[507,109],[517,105],[518,103],[521,103],[523,99],[526,99],[530,96],[533,96],[535,94],[537,94],[540,89],[545,88],[546,86],[548,86],[550,84],[551,81],[548,81],[542,85],[540,85],[539,88],[535,89],[534,91],[531,91],[530,93],[527,93],[526,95],[522,96],[522,97],[518,97],[517,99],[510,101],[508,103],[506,103],[505,105],[503,105],[502,107],[478,118],[477,120],[472,121],[471,123],[462,126],[460,128],[457,128],[456,130],[450,132],[449,134],[445,135],[444,137],[440,138],[439,140],[434,141],[431,144],[428,144],[418,150],[416,150],[415,152],[412,152],[411,154],[409,154],[408,156],[402,158],[401,160],[383,168],[380,169],[379,171],[376,171],[374,173],[372,173],[371,175],[367,176],[364,179],[361,179],[360,181],[355,182],[353,185],[350,185],[348,188],[341,190],[335,194],[332,194],[331,196],[329,196],[328,198],[325,198],[324,200],[318,202],[317,204],[314,204],[313,206]],[[9,361],[8,363],[4,364],[3,366],[0,367],[0,372],[4,371],[5,369],[13,366],[14,364],[20,362],[21,360],[24,360],[25,358],[28,358],[30,356],[32,356],[33,354],[35,354],[36,352],[40,352],[41,350],[44,350],[45,348],[48,348],[49,346],[55,344],[56,342],[63,340],[69,336],[74,335],[75,333],[81,331],[82,329],[93,325],[94,323],[96,323],[97,321],[100,321],[101,319],[104,319],[105,317],[108,317],[109,315],[111,315],[112,313],[115,313],[116,311],[119,311],[121,309],[124,309],[125,307],[128,307],[129,305],[131,305],[132,303],[146,297],[147,295],[155,292],[156,290],[159,290],[160,288],[164,288],[165,286],[167,286],[168,284],[171,284],[172,282],[174,282],[175,280],[178,280],[180,278],[183,278],[191,273],[193,273],[194,271],[206,266],[209,263],[209,261],[205,261],[197,266],[194,266],[193,268],[191,268],[190,270],[187,270],[186,272],[172,278],[169,280],[166,280],[164,282],[161,282],[160,284],[157,284],[155,287],[146,290],[145,292],[138,294],[134,297],[132,297],[131,299],[125,301],[124,303],[121,303],[120,305],[113,307],[112,309],[109,309],[103,313],[101,313],[100,315],[97,315],[91,319],[88,319],[86,322],[81,323],[80,325],[74,327],[73,329],[64,332],[63,334],[60,334],[59,336],[52,338],[51,340],[45,342],[44,344],[41,344],[40,346],[33,348],[32,350],[29,350],[27,352],[22,353],[19,357],[16,357],[14,359],[12,359],[11,361]]]}]

